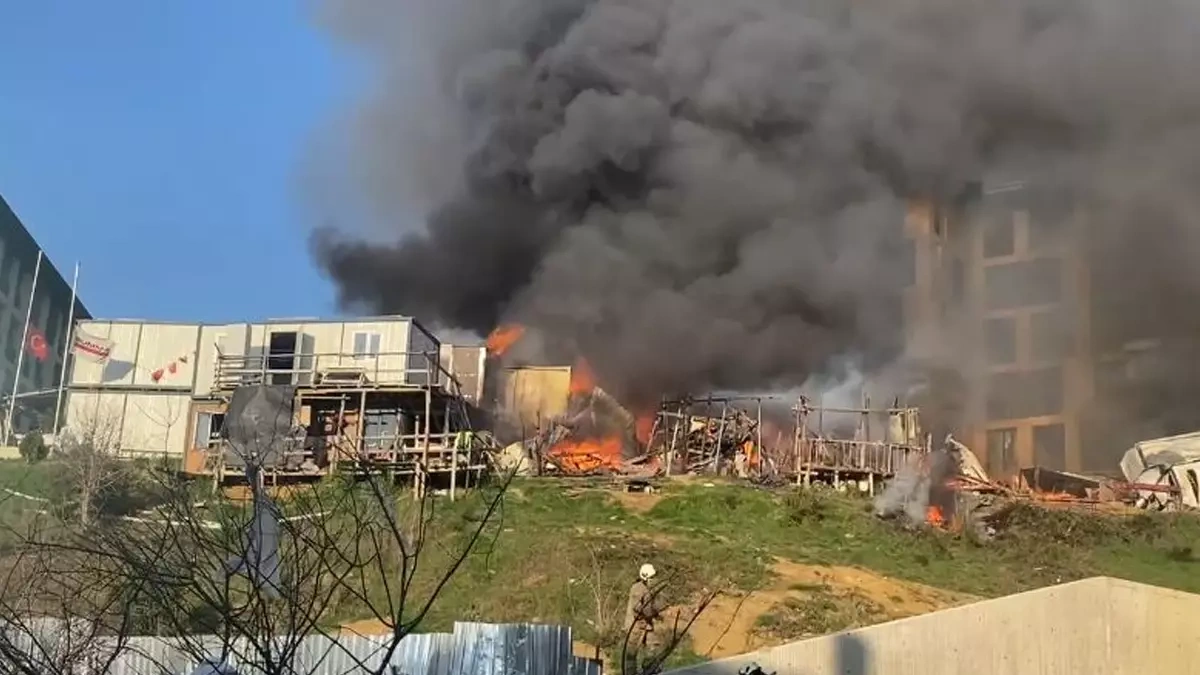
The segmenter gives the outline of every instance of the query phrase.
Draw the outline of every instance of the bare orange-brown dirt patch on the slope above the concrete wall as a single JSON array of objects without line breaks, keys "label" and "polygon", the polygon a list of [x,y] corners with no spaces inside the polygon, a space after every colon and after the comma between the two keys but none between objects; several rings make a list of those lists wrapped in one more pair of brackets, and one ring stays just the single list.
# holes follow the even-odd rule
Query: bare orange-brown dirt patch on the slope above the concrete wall
[{"label": "bare orange-brown dirt patch on the slope above the concrete wall", "polygon": [[[857,595],[883,609],[880,619],[889,621],[914,616],[971,602],[972,597],[949,593],[931,586],[889,579],[856,567],[824,567],[776,561],[772,566],[775,580],[749,595],[721,596],[692,626],[692,651],[709,658],[721,658],[754,651],[772,643],[756,631],[760,617],[772,613],[790,598],[804,599],[814,590],[838,595]],[[793,635],[791,639],[800,638]]]}]

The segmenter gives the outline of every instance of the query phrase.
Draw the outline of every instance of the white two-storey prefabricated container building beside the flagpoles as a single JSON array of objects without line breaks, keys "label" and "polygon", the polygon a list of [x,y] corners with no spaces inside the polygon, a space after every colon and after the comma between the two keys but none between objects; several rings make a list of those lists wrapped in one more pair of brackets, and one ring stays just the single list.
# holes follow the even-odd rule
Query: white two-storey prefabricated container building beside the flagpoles
[{"label": "white two-storey prefabricated container building beside the flagpoles", "polygon": [[95,319],[80,322],[79,330],[113,346],[106,363],[76,359],[66,430],[103,429],[127,455],[182,455],[217,377],[311,386],[354,368],[377,384],[442,380],[438,340],[401,316],[226,324]]}]

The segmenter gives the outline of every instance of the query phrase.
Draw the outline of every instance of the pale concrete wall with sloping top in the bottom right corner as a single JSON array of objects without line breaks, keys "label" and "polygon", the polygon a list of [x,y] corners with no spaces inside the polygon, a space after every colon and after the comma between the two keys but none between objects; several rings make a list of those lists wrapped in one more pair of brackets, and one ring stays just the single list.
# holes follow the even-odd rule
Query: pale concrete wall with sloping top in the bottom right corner
[{"label": "pale concrete wall with sloping top in the bottom right corner", "polygon": [[[733,657],[672,675],[1200,673],[1200,596],[1085,579]],[[1148,669],[1147,669],[1148,668]]]}]

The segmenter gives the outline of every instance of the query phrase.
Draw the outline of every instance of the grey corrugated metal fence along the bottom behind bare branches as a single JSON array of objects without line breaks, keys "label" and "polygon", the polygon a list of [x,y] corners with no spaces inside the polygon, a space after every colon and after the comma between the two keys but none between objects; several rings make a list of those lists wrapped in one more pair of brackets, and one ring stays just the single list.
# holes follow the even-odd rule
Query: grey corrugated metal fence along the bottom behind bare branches
[{"label": "grey corrugated metal fence along the bottom behind bare branches", "polygon": [[[222,649],[217,635],[137,637],[125,641],[107,669],[102,664],[118,649],[115,638],[72,647],[72,631],[58,620],[24,622],[7,633],[31,659],[48,662],[47,673],[72,675],[191,675],[205,659],[220,661],[222,652],[223,664],[239,675],[602,675],[600,662],[571,655],[570,627],[534,623],[458,622],[452,633],[406,635],[390,658],[386,635],[276,638],[277,649],[245,639]],[[264,651],[275,665],[263,665]],[[283,658],[284,652],[290,657]]]}]

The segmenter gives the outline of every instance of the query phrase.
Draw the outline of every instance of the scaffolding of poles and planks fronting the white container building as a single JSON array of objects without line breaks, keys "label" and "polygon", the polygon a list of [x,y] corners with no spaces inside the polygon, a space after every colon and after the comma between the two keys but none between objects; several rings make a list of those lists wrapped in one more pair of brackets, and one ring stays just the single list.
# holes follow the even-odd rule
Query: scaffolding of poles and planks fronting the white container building
[{"label": "scaffolding of poles and planks fronting the white container building", "polygon": [[[379,354],[218,356],[214,394],[224,402],[244,388],[294,389],[292,431],[268,480],[385,474],[410,479],[418,494],[436,480],[450,495],[478,483],[488,466],[490,436],[473,424],[473,406],[437,352]],[[217,483],[244,476],[227,438],[211,438],[204,461]]]}]

